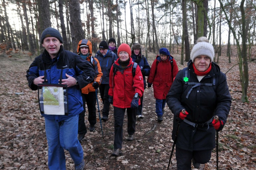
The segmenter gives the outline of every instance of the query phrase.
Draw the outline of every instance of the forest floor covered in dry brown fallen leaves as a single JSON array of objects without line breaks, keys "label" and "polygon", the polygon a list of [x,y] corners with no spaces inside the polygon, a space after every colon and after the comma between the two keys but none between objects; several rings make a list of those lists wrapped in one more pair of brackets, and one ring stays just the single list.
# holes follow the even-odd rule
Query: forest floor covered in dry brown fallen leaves
[{"label": "forest floor covered in dry brown fallen leaves", "polygon": [[[144,52],[145,53],[145,52]],[[218,65],[226,73],[236,64],[236,56],[220,56]],[[236,54],[236,50],[233,50]],[[256,58],[256,47],[252,53]],[[155,54],[148,54],[151,65]],[[180,54],[174,54],[179,70]],[[12,57],[0,55],[0,169],[48,169],[47,140],[44,118],[39,113],[37,91],[28,87],[26,70],[33,58],[18,52]],[[234,66],[227,72],[227,83],[232,96],[232,106],[224,129],[219,132],[219,169],[238,170],[256,167],[256,67],[249,68],[249,103],[242,103],[242,88],[239,68]],[[18,94],[16,94],[18,93]],[[20,93],[20,94],[19,94]],[[22,94],[24,93],[24,94]],[[98,95],[99,97],[99,95]],[[136,122],[135,140],[126,141],[127,117],[123,126],[122,155],[111,156],[114,143],[114,117],[111,106],[107,122],[102,122],[103,138],[97,112],[96,131],[89,132],[81,142],[84,149],[84,169],[167,169],[173,141],[171,140],[173,114],[165,107],[163,122],[157,122],[153,88],[146,88],[143,101],[142,120]],[[102,103],[99,98],[100,111]],[[98,110],[97,110],[98,111]],[[86,113],[86,117],[87,117]],[[89,127],[89,122],[86,120]],[[66,168],[74,169],[74,163],[66,151]],[[176,169],[175,150],[170,169]],[[216,149],[211,160],[200,166],[200,170],[216,169]]]}]

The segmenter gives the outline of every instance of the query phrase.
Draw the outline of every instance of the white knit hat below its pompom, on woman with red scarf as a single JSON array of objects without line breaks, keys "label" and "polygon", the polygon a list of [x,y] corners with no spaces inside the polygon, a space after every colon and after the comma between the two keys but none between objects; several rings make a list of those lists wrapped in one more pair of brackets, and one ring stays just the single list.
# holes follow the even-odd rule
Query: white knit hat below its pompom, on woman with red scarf
[{"label": "white knit hat below its pompom, on woman with red scarf", "polygon": [[201,56],[201,55],[210,57],[212,62],[214,57],[214,48],[212,44],[208,42],[198,42],[196,45],[194,45],[190,54],[190,59],[192,60],[192,62],[194,62],[197,56]]}]

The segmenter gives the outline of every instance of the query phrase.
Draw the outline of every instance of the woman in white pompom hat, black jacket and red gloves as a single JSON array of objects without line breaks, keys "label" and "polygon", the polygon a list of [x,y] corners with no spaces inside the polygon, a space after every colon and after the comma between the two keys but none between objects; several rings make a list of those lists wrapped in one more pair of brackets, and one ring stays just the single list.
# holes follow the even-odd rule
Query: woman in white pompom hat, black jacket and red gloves
[{"label": "woman in white pompom hat, black jacket and red gloves", "polygon": [[[212,62],[214,48],[206,37],[194,45],[187,68],[179,71],[169,93],[167,105],[174,114],[172,139],[177,169],[190,170],[211,159],[215,131],[223,129],[230,111],[231,97],[226,75]],[[218,116],[219,121],[213,118]]]}]

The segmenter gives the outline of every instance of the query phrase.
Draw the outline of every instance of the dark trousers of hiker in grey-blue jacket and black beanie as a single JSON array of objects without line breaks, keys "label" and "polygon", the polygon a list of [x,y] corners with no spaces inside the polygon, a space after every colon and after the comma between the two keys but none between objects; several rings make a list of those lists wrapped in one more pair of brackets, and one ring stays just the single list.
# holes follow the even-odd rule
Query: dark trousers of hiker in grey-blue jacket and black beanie
[{"label": "dark trousers of hiker in grey-blue jacket and black beanie", "polygon": [[109,114],[109,106],[110,103],[108,101],[108,90],[109,90],[109,84],[101,84],[99,86],[99,93],[100,93],[100,98],[102,99],[103,102],[103,110],[102,110],[102,116],[107,116]]}]

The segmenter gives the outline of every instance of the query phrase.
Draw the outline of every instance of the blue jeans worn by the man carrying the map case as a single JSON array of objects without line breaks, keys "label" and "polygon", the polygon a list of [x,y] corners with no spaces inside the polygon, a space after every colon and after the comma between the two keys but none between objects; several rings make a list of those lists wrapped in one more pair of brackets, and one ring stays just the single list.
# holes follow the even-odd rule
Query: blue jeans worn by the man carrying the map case
[{"label": "blue jeans worn by the man carrying the map case", "polygon": [[77,139],[78,115],[67,120],[45,120],[45,132],[48,142],[48,167],[53,170],[66,169],[64,149],[68,150],[75,165],[84,161],[84,152]]}]

